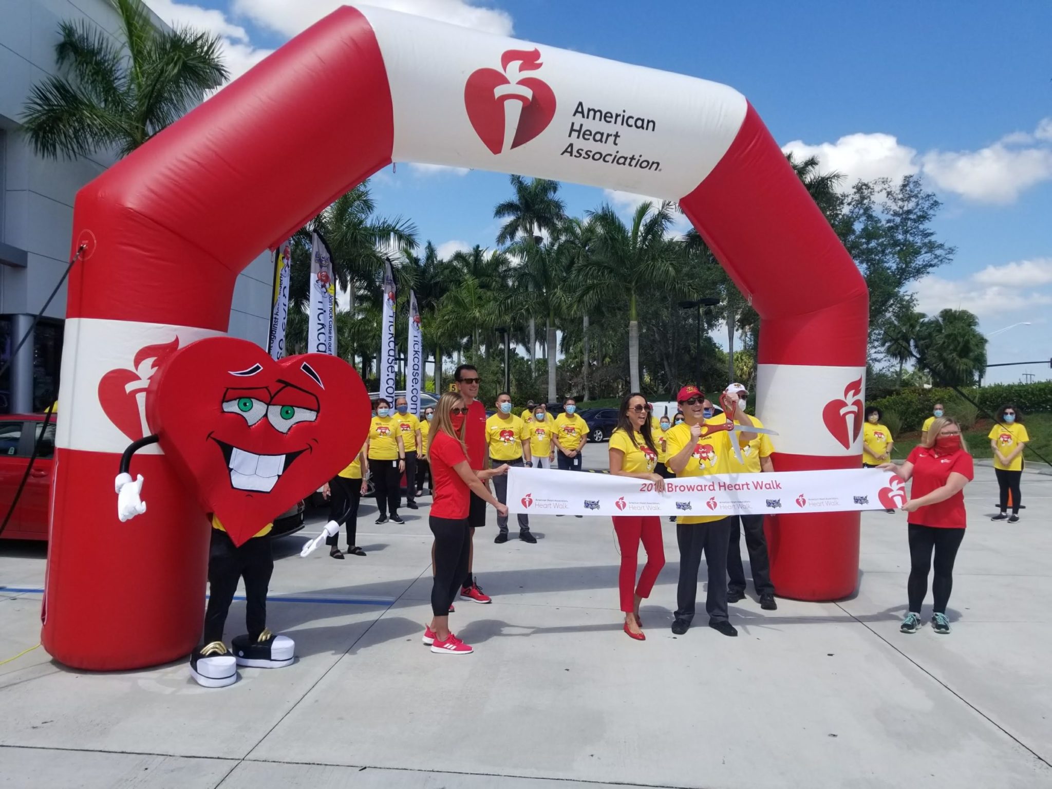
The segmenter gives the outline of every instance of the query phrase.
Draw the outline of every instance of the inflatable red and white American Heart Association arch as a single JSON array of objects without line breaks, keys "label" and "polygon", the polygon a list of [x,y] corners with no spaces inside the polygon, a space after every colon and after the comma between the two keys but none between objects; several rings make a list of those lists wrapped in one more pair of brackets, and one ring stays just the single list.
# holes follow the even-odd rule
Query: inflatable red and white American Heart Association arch
[{"label": "inflatable red and white American Heart Association arch", "polygon": [[[867,290],[755,110],[701,79],[343,7],[77,196],[43,643],[133,668],[190,651],[207,526],[162,454],[116,517],[118,456],[148,431],[165,353],[224,332],[238,272],[392,161],[679,201],[762,318],[758,410],[780,469],[859,463]],[[792,497],[783,502],[792,507]],[[782,515],[781,594],[849,594],[858,515]]]}]

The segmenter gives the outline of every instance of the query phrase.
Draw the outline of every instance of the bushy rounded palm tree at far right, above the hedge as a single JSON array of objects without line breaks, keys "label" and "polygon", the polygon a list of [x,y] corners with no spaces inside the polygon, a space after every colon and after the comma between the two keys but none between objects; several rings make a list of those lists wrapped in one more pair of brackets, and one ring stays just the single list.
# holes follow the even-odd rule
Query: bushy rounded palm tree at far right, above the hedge
[{"label": "bushy rounded palm tree at far right, above the hedge", "polygon": [[987,339],[979,321],[967,309],[944,309],[926,318],[917,330],[916,346],[924,365],[948,386],[971,386],[986,372]]}]

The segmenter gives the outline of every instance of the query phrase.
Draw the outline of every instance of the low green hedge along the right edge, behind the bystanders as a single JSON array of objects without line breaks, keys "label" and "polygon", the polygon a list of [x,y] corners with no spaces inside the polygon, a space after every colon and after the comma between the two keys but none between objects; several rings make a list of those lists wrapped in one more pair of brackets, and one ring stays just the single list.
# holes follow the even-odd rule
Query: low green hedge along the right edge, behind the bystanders
[{"label": "low green hedge along the right edge, behind the bystanders", "polygon": [[[978,403],[983,411],[991,413],[996,412],[1006,403],[1018,406],[1024,413],[1052,411],[1052,381],[1041,381],[1034,384],[970,386],[962,387],[962,391]],[[868,405],[875,405],[882,411],[894,412],[902,422],[903,430],[919,430],[924,421],[931,416],[931,409],[935,403],[943,403],[950,416],[966,421],[970,416],[968,412],[973,410],[953,389],[925,389],[922,387],[903,389],[896,394],[874,400]],[[980,412],[978,416],[986,414]]]}]

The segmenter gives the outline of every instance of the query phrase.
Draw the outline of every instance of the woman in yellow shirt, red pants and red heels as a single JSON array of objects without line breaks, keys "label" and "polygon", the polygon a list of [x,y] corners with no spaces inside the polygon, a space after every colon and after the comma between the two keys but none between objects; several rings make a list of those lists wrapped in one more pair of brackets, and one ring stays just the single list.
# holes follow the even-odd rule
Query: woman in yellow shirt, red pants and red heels
[{"label": "woman in yellow shirt, red pants and red heels", "polygon": [[[656,490],[664,490],[665,480],[654,472],[658,451],[650,427],[647,399],[639,393],[629,394],[621,404],[618,426],[610,436],[610,473],[647,480],[654,484]],[[618,545],[621,547],[618,588],[621,590],[621,610],[625,612],[625,632],[636,641],[644,641],[640,602],[650,596],[658,573],[665,566],[661,519],[658,515],[614,515],[613,530],[618,533]],[[647,551],[647,563],[636,585],[641,542]]]}]

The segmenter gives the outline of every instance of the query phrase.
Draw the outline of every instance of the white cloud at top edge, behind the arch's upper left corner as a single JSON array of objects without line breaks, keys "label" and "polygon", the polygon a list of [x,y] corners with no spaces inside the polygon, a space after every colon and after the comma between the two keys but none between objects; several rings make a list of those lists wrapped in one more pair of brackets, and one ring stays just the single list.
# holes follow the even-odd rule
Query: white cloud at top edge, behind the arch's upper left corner
[{"label": "white cloud at top edge, behind the arch's upper left corner", "polygon": [[[295,36],[344,4],[342,0],[234,0],[231,7],[235,14]],[[511,15],[507,12],[481,8],[466,0],[369,0],[368,4],[501,36],[512,33]]]}]

